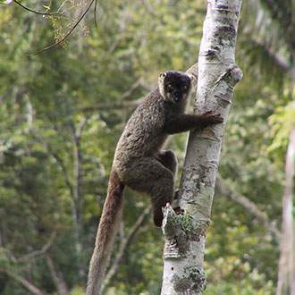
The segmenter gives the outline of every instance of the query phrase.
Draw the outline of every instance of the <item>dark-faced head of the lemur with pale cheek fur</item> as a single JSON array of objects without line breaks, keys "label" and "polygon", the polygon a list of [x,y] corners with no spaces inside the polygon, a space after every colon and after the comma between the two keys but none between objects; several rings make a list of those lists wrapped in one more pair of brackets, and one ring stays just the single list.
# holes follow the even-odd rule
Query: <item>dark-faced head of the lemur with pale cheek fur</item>
[{"label": "dark-faced head of the lemur with pale cheek fur", "polygon": [[158,79],[161,96],[180,104],[190,94],[191,78],[185,72],[162,72]]}]

